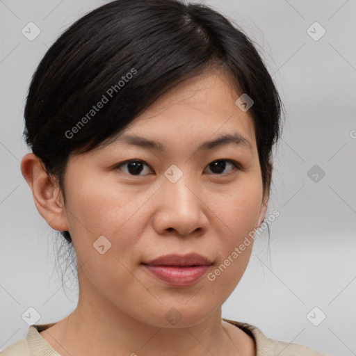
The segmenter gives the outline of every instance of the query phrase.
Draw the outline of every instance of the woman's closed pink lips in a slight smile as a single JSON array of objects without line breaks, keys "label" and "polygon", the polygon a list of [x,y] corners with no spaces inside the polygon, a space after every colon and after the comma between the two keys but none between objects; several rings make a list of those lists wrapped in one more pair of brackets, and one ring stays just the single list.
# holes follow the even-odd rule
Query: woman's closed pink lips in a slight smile
[{"label": "woman's closed pink lips in a slight smile", "polygon": [[143,266],[170,286],[188,286],[196,283],[207,272],[212,262],[200,254],[168,254]]}]

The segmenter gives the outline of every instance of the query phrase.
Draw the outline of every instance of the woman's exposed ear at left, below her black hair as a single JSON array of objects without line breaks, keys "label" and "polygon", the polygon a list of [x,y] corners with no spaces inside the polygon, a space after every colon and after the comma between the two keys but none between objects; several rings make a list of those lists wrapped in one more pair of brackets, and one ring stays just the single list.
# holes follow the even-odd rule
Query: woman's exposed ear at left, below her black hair
[{"label": "woman's exposed ear at left, below her black hair", "polygon": [[49,179],[38,156],[33,153],[26,154],[21,161],[21,172],[31,188],[35,206],[42,218],[53,229],[67,231],[63,195],[56,180]]}]

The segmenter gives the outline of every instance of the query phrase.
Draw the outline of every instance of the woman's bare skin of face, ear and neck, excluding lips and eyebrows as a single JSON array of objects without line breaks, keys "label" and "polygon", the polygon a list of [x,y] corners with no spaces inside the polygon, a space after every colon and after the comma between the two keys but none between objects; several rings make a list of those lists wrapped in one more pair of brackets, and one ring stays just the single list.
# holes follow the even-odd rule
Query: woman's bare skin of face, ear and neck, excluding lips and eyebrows
[{"label": "woman's bare skin of face, ear and neck, excluding lips and eyebrows", "polygon": [[[165,92],[124,131],[156,140],[165,150],[117,140],[70,156],[65,204],[38,158],[24,156],[22,174],[38,211],[52,228],[70,232],[78,258],[78,305],[41,332],[58,353],[255,355],[248,334],[221,320],[221,306],[248,266],[252,243],[216,280],[204,275],[190,286],[168,286],[141,265],[164,254],[197,252],[213,261],[212,272],[264,219],[268,193],[263,194],[253,122],[236,106],[238,97],[223,70]],[[205,141],[233,132],[251,149],[229,143],[197,151]],[[140,175],[130,175],[127,164],[118,168],[129,159],[147,163]],[[219,159],[232,159],[243,170],[225,161],[216,173],[209,164]],[[172,164],[183,173],[175,183],[164,175]],[[93,243],[103,235],[111,248],[100,254]],[[165,318],[171,308],[181,315],[175,325]]]}]

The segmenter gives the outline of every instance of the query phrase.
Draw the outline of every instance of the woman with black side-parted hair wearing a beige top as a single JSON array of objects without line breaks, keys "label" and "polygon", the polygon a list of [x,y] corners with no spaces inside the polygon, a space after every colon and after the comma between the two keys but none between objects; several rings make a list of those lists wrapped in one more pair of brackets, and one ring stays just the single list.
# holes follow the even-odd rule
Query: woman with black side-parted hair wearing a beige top
[{"label": "woman with black side-parted hair wearing a beige top", "polygon": [[221,318],[264,221],[282,104],[207,6],[113,1],[47,51],[21,170],[76,253],[79,302],[24,355],[322,355]]}]

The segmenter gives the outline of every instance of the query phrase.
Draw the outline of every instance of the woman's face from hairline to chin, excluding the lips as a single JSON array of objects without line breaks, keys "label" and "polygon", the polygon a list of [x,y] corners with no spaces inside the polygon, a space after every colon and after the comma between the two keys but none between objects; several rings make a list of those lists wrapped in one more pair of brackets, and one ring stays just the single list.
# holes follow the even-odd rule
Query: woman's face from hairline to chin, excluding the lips
[{"label": "woman's face from hairline to chin, excluding the lips", "polygon": [[[239,95],[228,83],[220,71],[185,81],[115,142],[70,156],[63,219],[83,265],[79,305],[86,300],[165,327],[177,316],[181,327],[202,321],[232,293],[252,250],[252,243],[239,246],[264,219],[266,204],[252,117],[236,106]],[[245,143],[204,145],[226,135]],[[212,263],[198,280],[163,281],[143,264],[191,252]]]}]

